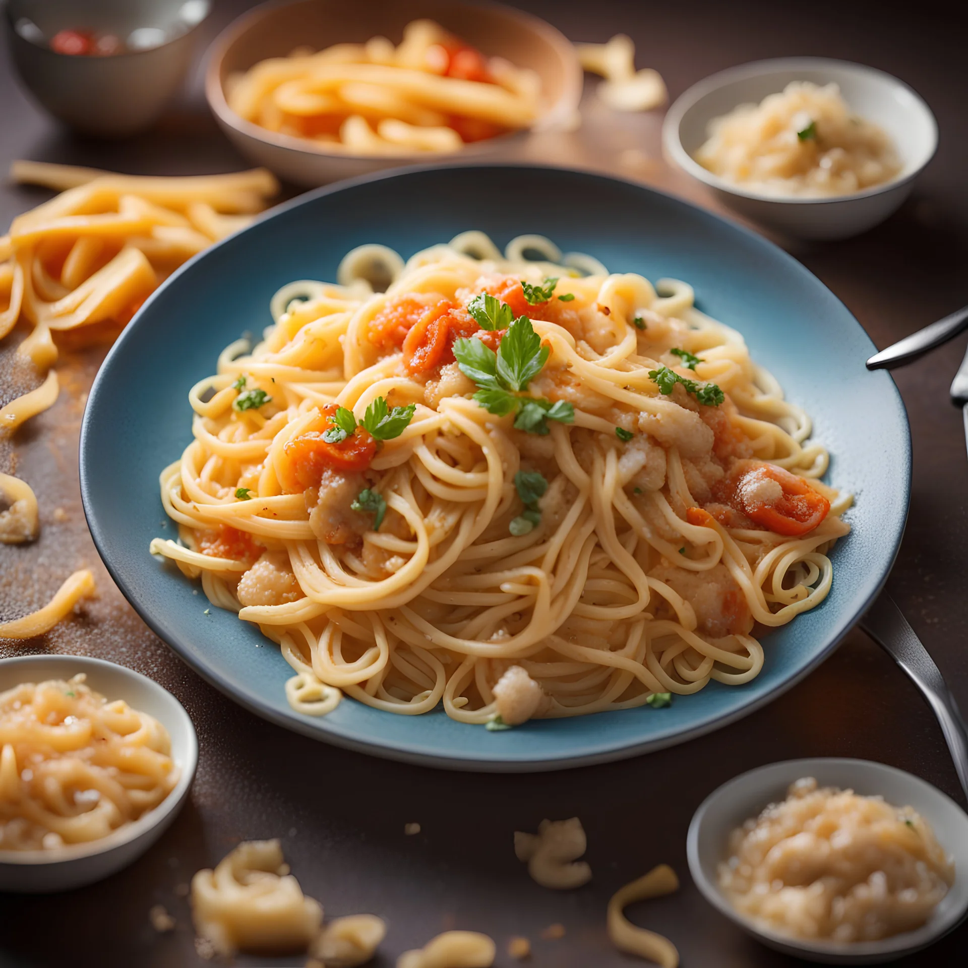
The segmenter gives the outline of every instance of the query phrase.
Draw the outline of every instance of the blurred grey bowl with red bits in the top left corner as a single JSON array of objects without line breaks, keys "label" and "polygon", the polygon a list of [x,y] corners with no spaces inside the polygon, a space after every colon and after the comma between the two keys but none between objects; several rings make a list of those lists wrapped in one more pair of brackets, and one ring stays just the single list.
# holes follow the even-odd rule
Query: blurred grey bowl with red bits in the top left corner
[{"label": "blurred grey bowl with red bits in the top left corner", "polygon": [[[54,117],[84,135],[144,131],[181,87],[210,0],[7,0],[4,20],[21,80]],[[50,49],[62,30],[110,34],[124,52]]]}]

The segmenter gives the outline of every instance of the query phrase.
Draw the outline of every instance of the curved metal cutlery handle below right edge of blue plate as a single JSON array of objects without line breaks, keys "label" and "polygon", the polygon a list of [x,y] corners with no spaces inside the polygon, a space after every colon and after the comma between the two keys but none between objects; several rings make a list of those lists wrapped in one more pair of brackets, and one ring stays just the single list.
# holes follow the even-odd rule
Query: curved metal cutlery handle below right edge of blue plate
[{"label": "curved metal cutlery handle below right edge of blue plate", "polygon": [[954,770],[968,798],[968,729],[941,672],[891,596],[882,591],[861,620],[862,629],[888,651],[921,689],[945,735]]}]

